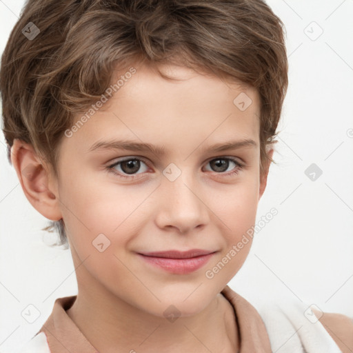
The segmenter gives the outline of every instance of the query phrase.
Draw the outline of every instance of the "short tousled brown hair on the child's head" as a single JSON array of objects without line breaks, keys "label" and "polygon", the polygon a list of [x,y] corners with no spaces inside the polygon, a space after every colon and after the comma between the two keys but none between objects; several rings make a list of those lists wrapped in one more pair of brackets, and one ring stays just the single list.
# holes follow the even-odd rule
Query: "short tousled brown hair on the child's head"
[{"label": "short tousled brown hair on the child's head", "polygon": [[[40,31],[31,40],[23,33],[35,29],[30,22]],[[262,0],[28,0],[1,58],[8,159],[20,139],[58,176],[65,130],[101,97],[117,65],[178,58],[259,92],[262,174],[288,86],[283,30]],[[45,230],[52,228],[67,245],[63,220]]]}]

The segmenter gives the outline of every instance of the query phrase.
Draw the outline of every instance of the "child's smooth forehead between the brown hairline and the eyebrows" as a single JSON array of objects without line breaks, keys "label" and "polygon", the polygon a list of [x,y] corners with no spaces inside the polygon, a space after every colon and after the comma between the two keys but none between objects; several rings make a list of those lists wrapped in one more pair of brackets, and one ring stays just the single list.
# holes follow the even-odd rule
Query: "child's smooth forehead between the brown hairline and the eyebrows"
[{"label": "child's smooth forehead between the brown hairline and the eyebrows", "polygon": [[114,70],[110,87],[117,90],[77,129],[71,148],[87,152],[99,140],[122,137],[163,144],[167,151],[176,144],[188,151],[206,139],[219,143],[220,137],[259,141],[260,104],[254,88],[183,65],[158,68],[165,77],[145,64]]}]

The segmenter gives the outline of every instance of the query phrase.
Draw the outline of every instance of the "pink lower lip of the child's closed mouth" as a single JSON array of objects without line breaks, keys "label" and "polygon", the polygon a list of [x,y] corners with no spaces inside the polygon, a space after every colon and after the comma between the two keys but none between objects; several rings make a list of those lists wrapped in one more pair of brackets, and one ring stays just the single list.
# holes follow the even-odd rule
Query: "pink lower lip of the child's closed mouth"
[{"label": "pink lower lip of the child's closed mouth", "polygon": [[174,274],[189,274],[208,263],[214,253],[191,257],[190,259],[170,259],[166,257],[139,256],[146,262]]}]

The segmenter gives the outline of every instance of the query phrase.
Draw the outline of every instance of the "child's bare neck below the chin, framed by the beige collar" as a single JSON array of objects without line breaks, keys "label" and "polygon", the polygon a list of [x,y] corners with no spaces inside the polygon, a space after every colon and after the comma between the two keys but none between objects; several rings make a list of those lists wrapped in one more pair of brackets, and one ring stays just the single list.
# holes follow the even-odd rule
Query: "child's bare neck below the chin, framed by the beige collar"
[{"label": "child's bare neck below the chin, framed by the beige collar", "polygon": [[90,288],[79,288],[67,314],[101,353],[238,352],[234,309],[222,294],[198,314],[171,322],[126,303],[97,283]]}]

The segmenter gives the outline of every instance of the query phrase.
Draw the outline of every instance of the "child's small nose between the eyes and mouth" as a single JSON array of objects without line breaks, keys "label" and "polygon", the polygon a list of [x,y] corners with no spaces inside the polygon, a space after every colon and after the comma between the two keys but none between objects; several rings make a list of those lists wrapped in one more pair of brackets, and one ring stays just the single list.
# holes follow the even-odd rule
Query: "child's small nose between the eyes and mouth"
[{"label": "child's small nose between the eyes and mouth", "polygon": [[164,230],[185,234],[201,230],[209,222],[209,209],[202,185],[191,174],[182,172],[174,181],[163,178],[159,187],[156,222]]}]

